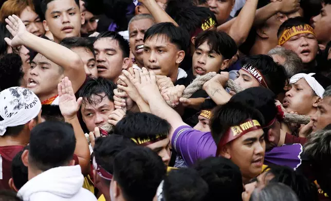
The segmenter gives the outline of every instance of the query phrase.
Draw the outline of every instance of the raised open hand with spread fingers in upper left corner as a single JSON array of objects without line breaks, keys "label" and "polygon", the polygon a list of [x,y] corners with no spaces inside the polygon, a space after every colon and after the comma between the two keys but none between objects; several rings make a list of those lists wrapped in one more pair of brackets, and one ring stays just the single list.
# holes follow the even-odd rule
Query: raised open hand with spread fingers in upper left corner
[{"label": "raised open hand with spread fingers in upper left corner", "polygon": [[6,28],[13,36],[12,39],[10,39],[8,37],[5,38],[5,41],[7,42],[7,44],[10,45],[11,47],[17,47],[20,45],[24,45],[24,44],[22,44],[21,37],[24,34],[28,33],[28,31],[26,30],[26,27],[25,27],[24,23],[22,22],[22,20],[20,19],[20,17],[17,17],[16,15],[11,15],[11,16],[8,16],[8,18],[6,18],[5,21],[8,24],[8,25],[6,25]]}]

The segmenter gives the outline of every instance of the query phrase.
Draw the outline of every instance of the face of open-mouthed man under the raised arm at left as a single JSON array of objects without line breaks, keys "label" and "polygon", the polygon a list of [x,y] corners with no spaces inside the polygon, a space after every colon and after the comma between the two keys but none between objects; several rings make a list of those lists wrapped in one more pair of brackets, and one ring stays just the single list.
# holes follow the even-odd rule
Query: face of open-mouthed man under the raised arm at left
[{"label": "face of open-mouthed man under the raised arm at left", "polygon": [[61,67],[49,61],[45,56],[37,54],[31,62],[28,72],[27,88],[43,101],[58,94],[58,84],[62,77]]}]

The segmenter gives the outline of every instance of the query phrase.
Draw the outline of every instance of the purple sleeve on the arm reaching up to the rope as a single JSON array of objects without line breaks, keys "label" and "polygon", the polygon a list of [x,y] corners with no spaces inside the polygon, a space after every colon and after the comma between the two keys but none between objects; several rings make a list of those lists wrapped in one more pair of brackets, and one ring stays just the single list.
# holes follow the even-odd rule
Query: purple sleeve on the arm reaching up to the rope
[{"label": "purple sleeve on the arm reaching up to the rope", "polygon": [[211,133],[194,130],[190,126],[178,127],[171,144],[189,167],[197,160],[216,155],[217,147]]}]

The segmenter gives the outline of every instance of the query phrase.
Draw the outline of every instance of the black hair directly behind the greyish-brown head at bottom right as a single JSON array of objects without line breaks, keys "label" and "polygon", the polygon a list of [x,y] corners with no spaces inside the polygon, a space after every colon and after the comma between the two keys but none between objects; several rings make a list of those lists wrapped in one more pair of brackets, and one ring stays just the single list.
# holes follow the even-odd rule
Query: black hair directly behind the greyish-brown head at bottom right
[{"label": "black hair directly behind the greyish-brown head at bottom right", "polygon": [[264,178],[269,174],[274,175],[270,183],[283,183],[289,186],[298,195],[299,200],[318,200],[317,189],[314,184],[309,183],[303,174],[292,168],[272,165],[264,169],[263,172],[266,172]]}]

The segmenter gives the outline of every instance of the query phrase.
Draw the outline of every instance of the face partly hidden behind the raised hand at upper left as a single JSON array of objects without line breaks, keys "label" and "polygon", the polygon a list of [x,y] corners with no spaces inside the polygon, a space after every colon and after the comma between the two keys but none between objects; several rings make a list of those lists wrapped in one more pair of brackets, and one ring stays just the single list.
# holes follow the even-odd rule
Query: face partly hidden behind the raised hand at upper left
[{"label": "face partly hidden behind the raised hand at upper left", "polygon": [[30,8],[30,6],[26,7],[22,11],[20,18],[22,19],[28,32],[33,33],[34,35],[39,37],[45,34],[43,22],[41,21],[39,15],[36,14]]}]

